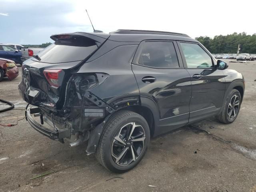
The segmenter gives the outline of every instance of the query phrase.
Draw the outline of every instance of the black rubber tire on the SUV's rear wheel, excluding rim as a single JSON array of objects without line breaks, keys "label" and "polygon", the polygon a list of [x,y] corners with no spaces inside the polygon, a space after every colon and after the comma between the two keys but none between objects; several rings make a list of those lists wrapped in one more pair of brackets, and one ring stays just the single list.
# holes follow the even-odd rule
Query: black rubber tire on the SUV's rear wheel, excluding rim
[{"label": "black rubber tire on the SUV's rear wheel, excluding rim", "polygon": [[[138,152],[136,151],[136,154],[138,155],[138,157],[135,158],[136,159],[135,161],[126,160],[127,162],[130,162],[130,163],[127,165],[120,165],[119,163],[123,161],[123,158],[121,158],[121,160],[116,163],[115,160],[117,161],[117,158],[114,160],[114,156],[112,156],[114,147],[116,147],[115,142],[117,142],[117,140],[114,138],[116,138],[117,136],[119,138],[120,138],[120,136],[123,136],[121,134],[122,129],[127,124],[130,124],[132,122],[134,122],[136,125],[140,125],[140,126],[138,126],[138,128],[142,127],[142,130],[144,130],[144,135],[143,135],[143,138],[145,137],[144,141],[140,141],[140,144],[142,144],[141,142],[143,142],[143,144],[142,144],[143,148],[140,151],[139,155],[138,155]],[[134,130],[135,130],[135,128],[134,128]],[[129,131],[126,130],[126,132],[129,132]],[[125,132],[125,134],[126,134],[126,132]],[[130,134],[128,134],[128,136],[129,135]],[[131,136],[131,138],[132,137],[133,136]],[[123,139],[122,139],[122,141],[124,142]],[[129,139],[129,141],[132,141],[132,140]],[[133,146],[135,146],[135,141],[131,147],[128,147],[128,144],[130,144],[130,143],[132,144],[132,142],[128,143],[129,141],[126,142],[127,146],[122,146],[122,147],[118,146],[119,149],[121,149],[120,154],[122,154],[122,152],[126,149],[126,152],[124,153],[124,157],[126,157],[126,156],[129,157],[130,155],[132,157],[134,157],[133,149],[135,149],[135,148]],[[148,148],[149,141],[150,141],[150,130],[149,130],[149,126],[148,126],[148,123],[146,122],[146,120],[141,115],[139,115],[135,112],[131,112],[128,110],[120,110],[120,111],[116,112],[116,114],[113,114],[109,118],[109,120],[106,122],[106,124],[104,126],[104,130],[100,137],[99,144],[96,148],[96,158],[100,162],[100,164],[102,164],[102,166],[104,166],[105,168],[107,168],[108,170],[110,170],[112,172],[116,172],[116,173],[126,172],[126,171],[134,168],[140,162],[140,160],[142,160],[142,158],[146,154],[146,150]],[[139,143],[139,142],[137,142],[137,143]],[[113,147],[113,149],[112,149],[112,147]],[[130,154],[129,154],[129,151],[130,151]],[[119,156],[117,156],[117,157],[119,157]]]}]

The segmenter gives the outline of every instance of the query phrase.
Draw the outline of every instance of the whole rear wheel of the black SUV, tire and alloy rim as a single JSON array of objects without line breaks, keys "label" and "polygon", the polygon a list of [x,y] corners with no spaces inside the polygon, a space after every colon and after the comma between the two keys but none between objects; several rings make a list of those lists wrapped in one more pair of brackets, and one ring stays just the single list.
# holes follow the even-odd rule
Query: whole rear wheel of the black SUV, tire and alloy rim
[{"label": "whole rear wheel of the black SUV, tire and alloy rim", "polygon": [[122,173],[134,168],[146,153],[150,130],[139,114],[121,110],[104,126],[96,158],[108,170]]}]

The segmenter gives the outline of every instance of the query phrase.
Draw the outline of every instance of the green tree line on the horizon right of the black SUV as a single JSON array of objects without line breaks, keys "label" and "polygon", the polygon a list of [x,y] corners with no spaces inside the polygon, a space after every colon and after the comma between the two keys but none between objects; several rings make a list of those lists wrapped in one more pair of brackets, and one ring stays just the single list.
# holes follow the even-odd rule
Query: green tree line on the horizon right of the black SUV
[{"label": "green tree line on the horizon right of the black SUV", "polygon": [[208,36],[196,37],[211,53],[237,53],[240,44],[240,53],[256,53],[256,34],[247,35],[246,32],[229,35],[216,35],[214,38]]}]

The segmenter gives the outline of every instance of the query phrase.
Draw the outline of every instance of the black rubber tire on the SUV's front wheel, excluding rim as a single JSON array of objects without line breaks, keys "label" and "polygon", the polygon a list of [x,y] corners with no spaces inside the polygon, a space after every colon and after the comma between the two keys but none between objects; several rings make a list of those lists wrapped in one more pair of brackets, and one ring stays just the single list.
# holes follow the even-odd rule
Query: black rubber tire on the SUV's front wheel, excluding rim
[{"label": "black rubber tire on the SUV's front wheel, excluding rim", "polygon": [[[236,109],[234,109],[235,111],[235,116],[232,118],[229,118],[229,114],[230,114],[230,110],[233,110],[229,104],[230,102],[232,102],[232,100],[234,99],[234,96],[238,96],[239,98],[239,104],[238,104],[238,110],[236,111]],[[234,100],[235,102],[235,100]],[[232,122],[234,122],[234,120],[236,120],[237,116],[238,116],[238,113],[240,111],[240,106],[241,106],[241,102],[242,102],[242,98],[241,98],[241,95],[240,95],[240,92],[236,89],[232,89],[230,91],[230,93],[228,94],[223,106],[222,106],[222,109],[221,109],[221,112],[216,116],[216,118],[222,122],[222,123],[225,123],[225,124],[230,124]],[[236,106],[235,106],[236,107]],[[234,112],[232,111],[232,113],[234,114]],[[232,114],[231,114],[232,115]]]}]

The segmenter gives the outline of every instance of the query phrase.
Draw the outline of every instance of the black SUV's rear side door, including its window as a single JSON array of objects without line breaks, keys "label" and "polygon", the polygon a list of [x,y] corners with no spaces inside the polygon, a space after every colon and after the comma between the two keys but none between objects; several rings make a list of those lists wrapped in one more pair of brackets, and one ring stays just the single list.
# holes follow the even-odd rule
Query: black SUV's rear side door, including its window
[{"label": "black SUV's rear side door, including its window", "polygon": [[190,75],[177,50],[174,41],[147,40],[140,43],[132,61],[140,97],[158,106],[155,135],[188,123]]}]

